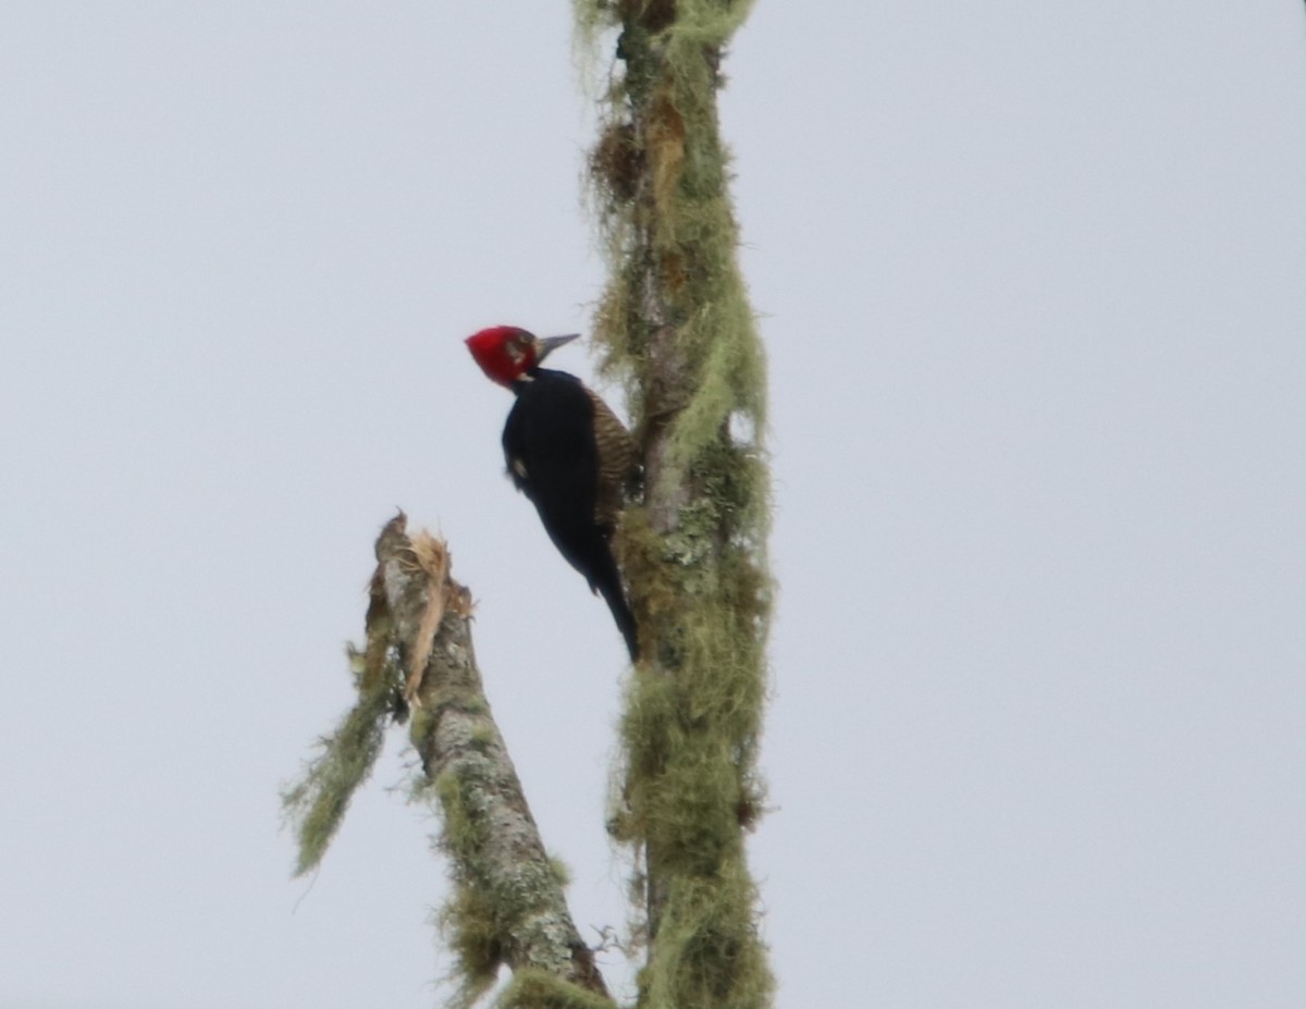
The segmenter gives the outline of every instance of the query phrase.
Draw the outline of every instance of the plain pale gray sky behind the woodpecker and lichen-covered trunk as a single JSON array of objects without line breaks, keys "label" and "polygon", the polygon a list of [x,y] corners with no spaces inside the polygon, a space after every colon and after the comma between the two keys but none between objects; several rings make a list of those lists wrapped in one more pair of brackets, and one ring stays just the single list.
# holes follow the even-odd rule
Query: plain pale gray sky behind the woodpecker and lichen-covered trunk
[{"label": "plain pale gray sky behind the woodpecker and lichen-covered trunk", "polygon": [[[3,14],[0,1006],[439,997],[398,740],[311,884],[278,834],[396,504],[619,924],[620,640],[461,342],[602,282],[568,5]],[[1299,1009],[1303,5],[764,1],[727,69],[780,1004]]]}]

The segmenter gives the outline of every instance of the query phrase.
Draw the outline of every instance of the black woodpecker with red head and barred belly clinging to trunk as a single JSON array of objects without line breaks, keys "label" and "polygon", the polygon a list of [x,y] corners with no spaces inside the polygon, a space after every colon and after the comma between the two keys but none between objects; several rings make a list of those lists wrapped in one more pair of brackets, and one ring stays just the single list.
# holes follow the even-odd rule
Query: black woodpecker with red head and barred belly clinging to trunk
[{"label": "black woodpecker with red head and barred belly clinging to trunk", "polygon": [[466,344],[486,376],[517,397],[503,427],[508,476],[530,498],[567,563],[607,603],[635,661],[635,617],[611,545],[635,446],[616,414],[579,378],[539,367],[577,336],[541,339],[515,325],[494,325]]}]

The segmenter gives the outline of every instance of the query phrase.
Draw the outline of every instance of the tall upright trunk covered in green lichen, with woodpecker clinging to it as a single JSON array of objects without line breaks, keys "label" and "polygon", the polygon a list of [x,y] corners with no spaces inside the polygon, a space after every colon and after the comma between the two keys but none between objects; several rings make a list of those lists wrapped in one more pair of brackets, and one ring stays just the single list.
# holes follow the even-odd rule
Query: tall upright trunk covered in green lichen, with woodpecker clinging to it
[{"label": "tall upright trunk covered in green lichen, with woodpecker clinging to it", "polygon": [[579,0],[615,29],[592,180],[613,280],[605,369],[628,380],[645,499],[618,548],[645,642],[614,834],[643,853],[641,1005],[761,1006],[771,975],[744,859],[771,604],[765,363],[735,250],[716,97],[748,4]]}]

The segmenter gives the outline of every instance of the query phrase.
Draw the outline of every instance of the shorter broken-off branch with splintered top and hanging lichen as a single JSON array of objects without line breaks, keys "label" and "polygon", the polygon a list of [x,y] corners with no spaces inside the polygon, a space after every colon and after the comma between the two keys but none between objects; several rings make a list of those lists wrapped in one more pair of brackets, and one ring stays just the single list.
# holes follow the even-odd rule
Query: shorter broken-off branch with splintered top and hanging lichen
[{"label": "shorter broken-off branch with splintered top and hanging lichen", "polygon": [[[325,851],[371,769],[385,720],[411,708],[423,771],[414,799],[440,816],[438,847],[453,882],[440,921],[457,957],[456,1004],[470,1004],[507,966],[513,982],[505,1005],[610,1009],[490,714],[470,593],[449,574],[445,544],[424,531],[409,536],[400,512],[376,540],[376,561],[359,702],[285,795],[299,829],[300,870]],[[324,772],[330,767],[351,772]]]}]

